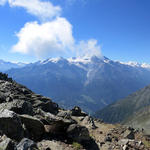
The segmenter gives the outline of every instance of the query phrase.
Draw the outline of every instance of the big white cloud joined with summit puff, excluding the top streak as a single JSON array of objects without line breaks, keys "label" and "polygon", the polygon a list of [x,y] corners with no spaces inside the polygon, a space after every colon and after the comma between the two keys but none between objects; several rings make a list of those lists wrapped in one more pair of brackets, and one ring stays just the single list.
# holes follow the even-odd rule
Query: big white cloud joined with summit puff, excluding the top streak
[{"label": "big white cloud joined with summit puff, excluding the top streak", "polygon": [[16,35],[18,43],[12,47],[13,52],[38,58],[72,55],[77,57],[101,56],[101,47],[95,39],[75,44],[72,25],[65,18],[58,17],[42,24],[26,23]]}]

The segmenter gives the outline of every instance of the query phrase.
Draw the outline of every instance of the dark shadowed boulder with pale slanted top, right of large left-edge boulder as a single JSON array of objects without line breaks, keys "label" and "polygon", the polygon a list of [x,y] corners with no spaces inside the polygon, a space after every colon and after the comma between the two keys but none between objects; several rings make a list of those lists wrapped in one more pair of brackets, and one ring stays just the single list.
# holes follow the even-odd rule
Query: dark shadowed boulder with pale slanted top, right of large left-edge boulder
[{"label": "dark shadowed boulder with pale slanted top, right of large left-edge boulder", "polygon": [[37,140],[42,137],[44,134],[44,124],[39,119],[29,115],[20,115],[20,118],[30,138]]}]

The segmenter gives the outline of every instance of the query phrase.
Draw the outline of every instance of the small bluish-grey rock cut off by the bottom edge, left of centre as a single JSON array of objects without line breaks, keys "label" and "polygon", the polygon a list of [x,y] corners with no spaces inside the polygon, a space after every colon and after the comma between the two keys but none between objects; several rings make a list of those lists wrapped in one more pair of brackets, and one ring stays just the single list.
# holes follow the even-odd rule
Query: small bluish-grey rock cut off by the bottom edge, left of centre
[{"label": "small bluish-grey rock cut off by the bottom edge, left of centre", "polygon": [[34,141],[24,138],[16,146],[16,150],[38,150],[36,143]]}]

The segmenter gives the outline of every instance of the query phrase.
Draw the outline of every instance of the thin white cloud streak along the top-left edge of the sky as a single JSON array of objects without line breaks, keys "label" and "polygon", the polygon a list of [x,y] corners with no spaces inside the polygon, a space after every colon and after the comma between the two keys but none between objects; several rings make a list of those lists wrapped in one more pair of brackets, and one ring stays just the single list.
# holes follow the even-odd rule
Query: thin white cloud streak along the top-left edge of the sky
[{"label": "thin white cloud streak along the top-left edge of the sky", "polygon": [[39,17],[42,20],[57,17],[61,13],[59,6],[54,6],[50,1],[41,0],[0,0],[0,4],[4,5],[6,2],[11,7],[22,7],[28,13]]}]

